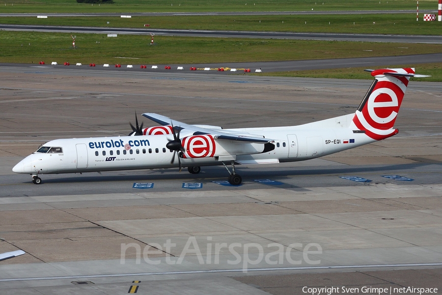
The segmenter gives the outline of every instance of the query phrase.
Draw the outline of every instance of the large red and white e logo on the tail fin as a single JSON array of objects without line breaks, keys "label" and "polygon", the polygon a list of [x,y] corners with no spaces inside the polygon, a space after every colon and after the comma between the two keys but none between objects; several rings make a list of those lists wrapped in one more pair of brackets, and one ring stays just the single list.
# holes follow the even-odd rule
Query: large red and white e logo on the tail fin
[{"label": "large red and white e logo on the tail fin", "polygon": [[[386,71],[388,70],[384,70]],[[364,101],[362,110],[356,112],[353,122],[360,130],[365,130],[369,137],[381,140],[398,133],[397,129],[392,128],[408,85],[408,78],[384,76],[376,77],[376,80],[374,89]]]}]

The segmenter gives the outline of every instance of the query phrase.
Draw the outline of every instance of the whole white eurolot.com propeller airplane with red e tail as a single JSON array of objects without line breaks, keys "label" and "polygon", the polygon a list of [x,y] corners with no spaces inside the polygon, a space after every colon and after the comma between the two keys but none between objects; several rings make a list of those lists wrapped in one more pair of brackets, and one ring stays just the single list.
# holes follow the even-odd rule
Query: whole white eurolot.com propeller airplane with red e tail
[{"label": "whole white eurolot.com propeller airplane with red e tail", "polygon": [[229,182],[239,185],[242,178],[235,164],[303,161],[397,134],[393,125],[410,77],[428,76],[415,74],[414,68],[366,71],[375,80],[354,114],[298,126],[222,129],[146,113],[144,117],[161,126],[142,128],[136,118],[130,136],[53,140],[12,171],[30,174],[33,183],[40,184],[42,174],[173,167],[197,174],[201,166],[224,165]]}]

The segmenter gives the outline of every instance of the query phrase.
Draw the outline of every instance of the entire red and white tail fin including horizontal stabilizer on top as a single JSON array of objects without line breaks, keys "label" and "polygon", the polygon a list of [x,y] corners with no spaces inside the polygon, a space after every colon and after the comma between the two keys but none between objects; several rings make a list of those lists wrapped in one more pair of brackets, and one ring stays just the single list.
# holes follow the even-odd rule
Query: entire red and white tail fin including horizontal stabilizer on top
[{"label": "entire red and white tail fin including horizontal stabilizer on top", "polygon": [[386,139],[399,132],[393,129],[402,98],[410,77],[429,77],[414,74],[414,68],[366,70],[375,77],[353,117],[351,128],[364,131],[374,140]]}]

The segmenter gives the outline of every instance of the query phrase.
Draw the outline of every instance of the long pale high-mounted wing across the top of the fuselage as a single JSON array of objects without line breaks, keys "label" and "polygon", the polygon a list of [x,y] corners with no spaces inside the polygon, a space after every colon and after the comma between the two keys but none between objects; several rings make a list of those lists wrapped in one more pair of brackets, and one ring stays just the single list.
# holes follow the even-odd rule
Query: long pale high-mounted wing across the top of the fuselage
[{"label": "long pale high-mounted wing across the top of the fuselage", "polygon": [[232,140],[232,141],[242,141],[247,142],[250,144],[267,144],[267,143],[275,143],[275,140],[269,139],[269,138],[260,138],[260,137],[253,137],[253,136],[247,136],[247,135],[236,135],[231,134],[227,132],[222,132],[221,130],[213,130],[213,129],[207,129],[207,128],[201,128],[194,125],[189,125],[177,120],[172,120],[171,118],[168,118],[166,116],[154,114],[154,113],[145,113],[143,114],[144,117],[151,119],[152,121],[166,126],[172,124],[174,128],[179,130],[190,130],[193,131],[193,135],[202,135],[202,134],[210,134],[213,136],[214,139],[218,140]]}]

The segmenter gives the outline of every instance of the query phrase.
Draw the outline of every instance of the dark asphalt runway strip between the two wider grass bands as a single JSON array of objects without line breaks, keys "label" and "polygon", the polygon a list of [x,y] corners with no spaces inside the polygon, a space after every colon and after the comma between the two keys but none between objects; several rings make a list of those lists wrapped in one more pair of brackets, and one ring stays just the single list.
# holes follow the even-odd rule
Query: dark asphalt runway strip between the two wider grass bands
[{"label": "dark asphalt runway strip between the two wider grass bands", "polygon": [[35,26],[3,25],[0,30],[69,32],[96,34],[134,34],[188,37],[223,37],[223,38],[262,38],[262,39],[296,39],[322,41],[359,41],[359,42],[393,42],[393,43],[442,43],[440,35],[393,35],[393,34],[348,34],[348,33],[299,33],[299,32],[261,32],[233,30],[195,30],[195,29],[132,29],[108,27],[70,27],[70,26]]}]

